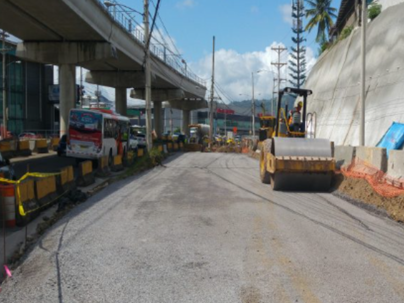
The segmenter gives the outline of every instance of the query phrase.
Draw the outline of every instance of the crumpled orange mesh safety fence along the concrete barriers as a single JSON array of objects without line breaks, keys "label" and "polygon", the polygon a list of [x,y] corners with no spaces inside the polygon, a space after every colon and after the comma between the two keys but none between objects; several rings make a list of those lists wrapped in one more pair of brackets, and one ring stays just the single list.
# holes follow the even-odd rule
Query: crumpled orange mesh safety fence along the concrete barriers
[{"label": "crumpled orange mesh safety fence along the concrete barriers", "polygon": [[380,195],[391,198],[404,194],[404,179],[393,178],[369,163],[355,158],[352,163],[341,168],[346,177],[365,179]]}]

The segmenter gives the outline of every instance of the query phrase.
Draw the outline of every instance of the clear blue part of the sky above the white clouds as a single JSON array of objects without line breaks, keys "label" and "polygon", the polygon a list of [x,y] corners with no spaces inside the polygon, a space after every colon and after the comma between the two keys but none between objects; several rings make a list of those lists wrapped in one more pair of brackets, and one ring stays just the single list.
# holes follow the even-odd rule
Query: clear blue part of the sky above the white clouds
[{"label": "clear blue part of the sky above the white clouds", "polygon": [[[340,2],[334,0],[333,6],[338,8]],[[142,10],[141,0],[120,3]],[[290,0],[161,0],[160,16],[185,60],[196,62],[212,53],[213,35],[217,49],[240,54],[262,51],[273,41],[290,46],[290,4]],[[150,12],[154,13],[153,5]],[[314,38],[312,32],[307,44],[316,49]]]}]

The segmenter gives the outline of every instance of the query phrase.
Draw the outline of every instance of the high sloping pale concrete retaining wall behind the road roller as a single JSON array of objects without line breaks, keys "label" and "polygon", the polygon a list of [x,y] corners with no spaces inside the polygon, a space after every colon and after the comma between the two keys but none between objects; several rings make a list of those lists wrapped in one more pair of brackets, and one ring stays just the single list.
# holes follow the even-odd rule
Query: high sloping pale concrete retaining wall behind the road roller
[{"label": "high sloping pale concrete retaining wall behind the road roller", "polygon": [[[404,123],[404,4],[384,10],[367,29],[366,138],[376,146],[393,121]],[[317,137],[359,144],[361,32],[323,53],[308,75],[308,112],[317,113]],[[388,56],[386,56],[388,54]]]}]

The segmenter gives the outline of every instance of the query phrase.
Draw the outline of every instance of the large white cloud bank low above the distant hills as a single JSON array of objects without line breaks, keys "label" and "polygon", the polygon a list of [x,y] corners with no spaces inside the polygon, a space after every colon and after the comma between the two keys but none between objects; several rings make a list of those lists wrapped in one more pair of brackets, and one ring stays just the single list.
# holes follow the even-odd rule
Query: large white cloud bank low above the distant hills
[{"label": "large white cloud bank low above the distant hills", "polygon": [[[220,49],[215,53],[215,80],[222,89],[231,97],[232,100],[246,99],[245,95],[251,95],[251,72],[259,70],[268,70],[276,72],[271,62],[277,60],[277,54],[272,51],[272,46],[284,46],[283,44],[273,42],[267,46],[264,51],[250,52],[240,54],[233,49]],[[288,54],[284,53],[283,60],[287,60]],[[311,69],[316,62],[313,50],[307,49],[307,69]],[[201,78],[210,79],[212,73],[212,54],[205,56],[196,63],[190,63],[191,69]],[[281,77],[289,78],[287,67],[281,69]],[[255,77],[255,94],[258,99],[272,97],[273,78],[271,72],[260,72]],[[276,78],[276,76],[275,76]],[[208,83],[210,89],[210,83]],[[219,92],[222,99],[227,103],[228,100]],[[261,94],[261,95],[260,95]]]}]

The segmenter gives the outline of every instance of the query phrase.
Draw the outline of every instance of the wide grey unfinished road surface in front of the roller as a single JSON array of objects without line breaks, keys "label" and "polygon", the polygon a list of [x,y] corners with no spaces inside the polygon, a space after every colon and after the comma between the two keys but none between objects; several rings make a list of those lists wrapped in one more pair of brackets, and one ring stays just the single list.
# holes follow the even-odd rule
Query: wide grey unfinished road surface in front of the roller
[{"label": "wide grey unfinished road surface in front of the roller", "polygon": [[166,165],[74,209],[0,301],[404,301],[402,225],[328,193],[273,192],[244,155]]}]

